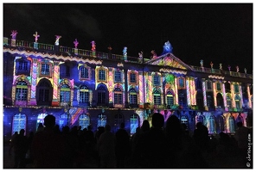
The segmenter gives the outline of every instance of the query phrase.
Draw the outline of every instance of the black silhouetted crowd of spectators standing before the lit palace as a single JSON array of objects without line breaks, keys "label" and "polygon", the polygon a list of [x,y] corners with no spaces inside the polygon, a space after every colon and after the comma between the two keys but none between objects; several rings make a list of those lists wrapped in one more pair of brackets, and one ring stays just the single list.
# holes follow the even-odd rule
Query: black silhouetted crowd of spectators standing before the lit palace
[{"label": "black silhouetted crowd of spectators standing before the lit palace", "polygon": [[201,122],[189,133],[176,115],[164,124],[162,114],[152,115],[130,137],[121,123],[117,132],[110,125],[60,126],[48,114],[36,132],[25,136],[24,129],[11,138],[9,154],[13,149],[13,168],[25,169],[86,169],[84,163],[101,169],[208,169],[208,153],[215,156],[240,155],[246,160],[247,135],[251,131],[238,123],[234,136],[220,132],[218,139],[208,135]]}]

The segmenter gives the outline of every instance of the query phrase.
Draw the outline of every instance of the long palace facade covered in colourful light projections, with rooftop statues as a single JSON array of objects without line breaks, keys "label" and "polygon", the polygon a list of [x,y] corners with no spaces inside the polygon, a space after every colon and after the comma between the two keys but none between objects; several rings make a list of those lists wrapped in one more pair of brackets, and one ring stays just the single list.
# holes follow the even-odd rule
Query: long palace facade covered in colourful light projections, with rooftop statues
[{"label": "long palace facade covered in colourful light projections, with rooftop statues", "polygon": [[62,126],[110,124],[112,132],[125,122],[131,133],[153,113],[165,121],[176,115],[190,132],[201,121],[209,134],[234,133],[236,122],[253,126],[253,75],[185,64],[172,53],[169,41],[157,56],[123,54],[3,38],[3,135],[25,129],[35,132],[47,114]]}]

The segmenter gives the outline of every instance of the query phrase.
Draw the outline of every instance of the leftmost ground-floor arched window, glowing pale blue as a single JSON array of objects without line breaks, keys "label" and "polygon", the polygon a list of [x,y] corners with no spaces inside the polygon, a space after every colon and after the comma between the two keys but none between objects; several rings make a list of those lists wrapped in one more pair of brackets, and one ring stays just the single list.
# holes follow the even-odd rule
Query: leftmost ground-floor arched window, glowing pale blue
[{"label": "leftmost ground-floor arched window, glowing pale blue", "polygon": [[21,129],[24,129],[26,132],[27,126],[27,117],[25,114],[15,114],[12,119],[12,134],[14,132],[20,132]]}]

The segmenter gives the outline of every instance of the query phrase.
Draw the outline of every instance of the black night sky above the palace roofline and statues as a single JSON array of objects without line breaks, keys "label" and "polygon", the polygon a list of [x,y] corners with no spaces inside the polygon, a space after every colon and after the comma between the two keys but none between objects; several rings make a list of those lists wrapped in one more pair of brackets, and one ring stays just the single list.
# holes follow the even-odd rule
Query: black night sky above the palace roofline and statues
[{"label": "black night sky above the palace roofline and statues", "polygon": [[163,52],[167,40],[173,54],[184,63],[236,71],[253,71],[253,3],[3,3],[3,36],[54,45],[91,49],[95,40],[99,52],[150,57]]}]

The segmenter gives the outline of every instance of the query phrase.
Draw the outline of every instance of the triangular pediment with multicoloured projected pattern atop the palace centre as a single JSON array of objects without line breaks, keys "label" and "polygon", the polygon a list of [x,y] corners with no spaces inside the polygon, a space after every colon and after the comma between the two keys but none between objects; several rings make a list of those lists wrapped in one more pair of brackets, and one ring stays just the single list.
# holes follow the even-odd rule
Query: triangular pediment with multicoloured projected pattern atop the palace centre
[{"label": "triangular pediment with multicoloured projected pattern atop the palace centre", "polygon": [[176,58],[172,53],[168,52],[159,57],[153,57],[146,64],[170,66],[182,70],[192,70],[192,68],[182,62],[179,58]]}]

